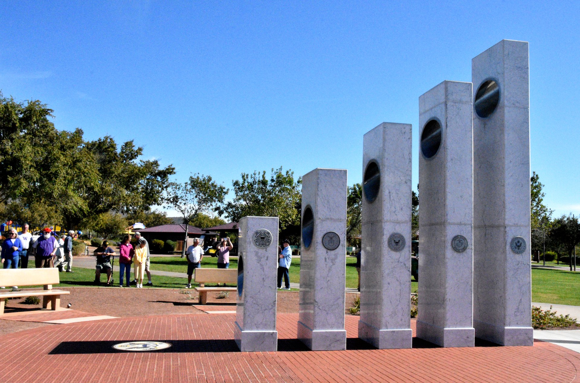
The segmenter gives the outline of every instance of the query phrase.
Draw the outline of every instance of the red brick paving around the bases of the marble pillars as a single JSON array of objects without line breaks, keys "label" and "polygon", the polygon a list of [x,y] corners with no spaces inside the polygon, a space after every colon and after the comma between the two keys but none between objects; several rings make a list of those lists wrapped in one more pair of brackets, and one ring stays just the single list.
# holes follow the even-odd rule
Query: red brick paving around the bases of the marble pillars
[{"label": "red brick paving around the bases of the marble pillars", "polygon": [[[533,347],[377,350],[356,339],[346,316],[346,351],[307,351],[298,314],[278,314],[278,351],[237,351],[234,314],[142,316],[62,324],[0,336],[0,382],[571,382],[580,354],[547,342]],[[412,327],[415,321],[412,320]],[[168,341],[156,352],[115,351],[121,341]]]}]

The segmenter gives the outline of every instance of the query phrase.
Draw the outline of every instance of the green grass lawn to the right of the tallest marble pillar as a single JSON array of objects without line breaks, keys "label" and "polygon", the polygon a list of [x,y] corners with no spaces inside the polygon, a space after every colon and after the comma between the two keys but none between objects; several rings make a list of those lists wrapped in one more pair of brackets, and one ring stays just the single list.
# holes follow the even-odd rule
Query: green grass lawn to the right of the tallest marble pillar
[{"label": "green grass lawn to the right of the tallest marble pillar", "polygon": [[532,302],[580,306],[580,274],[532,269]]}]

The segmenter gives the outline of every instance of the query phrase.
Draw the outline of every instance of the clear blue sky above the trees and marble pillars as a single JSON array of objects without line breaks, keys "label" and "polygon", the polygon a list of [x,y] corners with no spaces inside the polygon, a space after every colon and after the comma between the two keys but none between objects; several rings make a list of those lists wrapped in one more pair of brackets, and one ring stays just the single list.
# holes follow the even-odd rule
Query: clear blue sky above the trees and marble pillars
[{"label": "clear blue sky above the trees and marble pillars", "polygon": [[[530,42],[531,169],[555,215],[580,214],[578,2],[0,3],[0,89],[58,129],[135,139],[176,179],[283,166],[349,171],[362,135],[413,125],[418,97],[470,81],[501,39]],[[171,212],[170,212],[171,215]]]}]

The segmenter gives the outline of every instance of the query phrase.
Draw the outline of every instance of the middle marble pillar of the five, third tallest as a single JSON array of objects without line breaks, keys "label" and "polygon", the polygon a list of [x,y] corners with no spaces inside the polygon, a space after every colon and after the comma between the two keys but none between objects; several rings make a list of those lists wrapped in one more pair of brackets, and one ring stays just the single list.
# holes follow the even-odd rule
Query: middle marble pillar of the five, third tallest
[{"label": "middle marble pillar of the five, third tallest", "polygon": [[383,122],[362,147],[358,337],[411,348],[411,125]]}]

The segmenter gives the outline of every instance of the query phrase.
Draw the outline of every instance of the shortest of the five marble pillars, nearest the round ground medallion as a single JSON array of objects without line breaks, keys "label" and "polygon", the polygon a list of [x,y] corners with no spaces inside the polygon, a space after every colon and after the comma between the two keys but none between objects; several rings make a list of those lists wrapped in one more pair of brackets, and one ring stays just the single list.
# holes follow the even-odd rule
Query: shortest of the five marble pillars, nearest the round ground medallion
[{"label": "shortest of the five marble pillars, nearest the round ground medallion", "polygon": [[276,351],[278,217],[243,217],[234,339],[240,351]]}]

